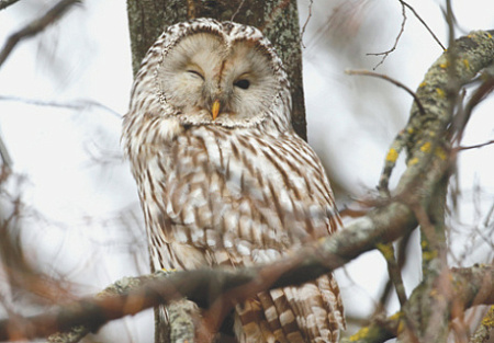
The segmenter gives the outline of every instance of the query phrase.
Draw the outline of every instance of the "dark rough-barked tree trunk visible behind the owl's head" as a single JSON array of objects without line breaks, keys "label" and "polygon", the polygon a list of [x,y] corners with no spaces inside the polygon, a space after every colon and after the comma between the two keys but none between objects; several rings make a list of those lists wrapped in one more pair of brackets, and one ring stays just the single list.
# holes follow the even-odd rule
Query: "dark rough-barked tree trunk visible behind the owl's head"
[{"label": "dark rough-barked tree trunk visible behind the owl's head", "polygon": [[127,0],[132,65],[137,72],[147,49],[164,28],[193,18],[214,18],[258,27],[284,62],[292,90],[292,124],[306,140],[302,53],[295,0]]}]

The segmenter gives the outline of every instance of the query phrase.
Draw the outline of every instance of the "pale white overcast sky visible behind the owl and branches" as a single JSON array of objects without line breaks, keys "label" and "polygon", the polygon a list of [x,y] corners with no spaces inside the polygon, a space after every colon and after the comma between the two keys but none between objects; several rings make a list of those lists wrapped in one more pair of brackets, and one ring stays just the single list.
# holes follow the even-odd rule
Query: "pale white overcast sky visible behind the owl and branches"
[{"label": "pale white overcast sky visible behind the owl and branches", "polygon": [[[55,2],[21,0],[0,11],[0,44]],[[308,2],[299,1],[301,25]],[[344,73],[372,69],[381,58],[366,54],[393,46],[402,22],[398,1],[347,1],[346,9],[353,3],[358,11],[344,11],[341,25],[327,32],[333,9],[343,2],[314,1],[303,36],[308,139],[335,184],[349,192],[338,193],[340,206],[350,204],[350,196],[375,188],[388,146],[406,123],[412,104],[404,91],[385,81]],[[407,2],[446,45],[444,2]],[[494,28],[492,0],[457,0],[453,5],[464,30],[458,35]],[[0,68],[0,135],[14,171],[23,175],[29,214],[22,232],[25,251],[42,271],[74,282],[79,294],[148,272],[136,186],[120,147],[121,116],[132,85],[125,11],[125,1],[82,1],[56,25],[21,43]],[[406,15],[396,50],[377,71],[416,89],[441,50],[409,11]],[[479,106],[463,145],[494,139],[493,111],[492,99]],[[400,170],[403,165],[394,182]],[[493,258],[492,248],[472,230],[493,204],[493,175],[494,147],[460,155],[461,217],[453,218],[452,264]],[[487,232],[492,235],[492,227]],[[419,281],[417,249],[406,266],[407,291]],[[366,317],[372,311],[383,273],[385,265],[377,253],[367,253],[337,273],[349,313]],[[393,301],[390,312],[396,309]],[[150,342],[150,316],[148,311],[106,325],[100,339]]]}]

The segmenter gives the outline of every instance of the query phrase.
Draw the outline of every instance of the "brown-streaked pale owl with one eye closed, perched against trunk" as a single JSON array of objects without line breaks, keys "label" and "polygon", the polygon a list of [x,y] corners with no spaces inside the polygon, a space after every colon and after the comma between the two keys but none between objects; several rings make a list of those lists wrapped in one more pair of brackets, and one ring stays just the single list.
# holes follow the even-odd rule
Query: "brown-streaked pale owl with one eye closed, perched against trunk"
[{"label": "brown-streaked pale owl with one eye closed, perched against trunk", "polygon": [[[269,263],[339,226],[324,169],[292,129],[281,59],[255,27],[168,27],[136,76],[122,138],[155,270]],[[328,274],[236,305],[232,331],[336,342],[343,313]]]}]

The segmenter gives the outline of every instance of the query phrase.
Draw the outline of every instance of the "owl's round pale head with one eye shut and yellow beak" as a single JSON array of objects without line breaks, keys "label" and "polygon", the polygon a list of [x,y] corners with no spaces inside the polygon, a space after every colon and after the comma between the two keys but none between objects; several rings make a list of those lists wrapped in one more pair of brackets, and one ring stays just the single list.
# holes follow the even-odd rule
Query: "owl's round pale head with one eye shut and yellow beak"
[{"label": "owl's round pale head with one eye shut and yellow beak", "polygon": [[[198,19],[168,27],[137,73],[132,112],[183,125],[291,128],[289,81],[262,33]],[[144,111],[143,111],[144,110]]]}]

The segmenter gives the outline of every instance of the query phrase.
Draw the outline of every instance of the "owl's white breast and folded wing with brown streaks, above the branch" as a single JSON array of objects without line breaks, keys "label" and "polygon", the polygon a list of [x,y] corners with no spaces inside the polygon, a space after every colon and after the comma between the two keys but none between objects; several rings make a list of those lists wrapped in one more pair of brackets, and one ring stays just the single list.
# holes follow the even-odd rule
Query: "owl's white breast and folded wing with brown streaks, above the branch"
[{"label": "owl's white breast and folded wing with brown streaks, above the branch", "polygon": [[272,261],[333,230],[321,164],[292,133],[189,127],[153,150],[139,174],[149,239],[169,252],[156,268]]}]

